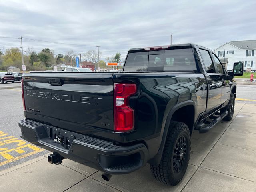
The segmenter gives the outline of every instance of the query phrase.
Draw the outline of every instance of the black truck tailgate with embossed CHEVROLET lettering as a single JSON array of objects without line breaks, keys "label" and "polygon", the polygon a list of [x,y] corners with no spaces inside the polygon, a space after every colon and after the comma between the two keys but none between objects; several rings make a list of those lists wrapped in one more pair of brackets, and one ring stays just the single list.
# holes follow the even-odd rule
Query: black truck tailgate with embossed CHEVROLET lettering
[{"label": "black truck tailgate with embossed CHEVROLET lettering", "polygon": [[112,73],[26,73],[26,118],[105,139],[114,139]]}]

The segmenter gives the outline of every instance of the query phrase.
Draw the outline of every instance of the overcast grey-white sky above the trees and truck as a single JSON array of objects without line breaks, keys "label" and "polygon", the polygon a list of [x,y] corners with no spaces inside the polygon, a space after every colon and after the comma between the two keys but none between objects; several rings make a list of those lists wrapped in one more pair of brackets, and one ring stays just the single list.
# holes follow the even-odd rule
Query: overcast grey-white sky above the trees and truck
[{"label": "overcast grey-white sky above the trees and truck", "polygon": [[[196,43],[212,50],[225,42],[256,40],[255,0],[0,0],[0,36],[33,47],[77,54],[100,46],[102,59],[129,48]],[[85,46],[89,45],[89,46]],[[20,47],[0,38],[0,49]]]}]

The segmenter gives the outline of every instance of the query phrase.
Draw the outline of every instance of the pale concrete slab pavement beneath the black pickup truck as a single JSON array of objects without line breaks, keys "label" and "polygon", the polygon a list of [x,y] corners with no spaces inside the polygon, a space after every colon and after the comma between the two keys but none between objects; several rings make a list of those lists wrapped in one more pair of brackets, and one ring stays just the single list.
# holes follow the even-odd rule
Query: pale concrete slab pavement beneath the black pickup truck
[{"label": "pale concrete slab pavement beneath the black pickup truck", "polygon": [[256,192],[256,104],[236,103],[234,118],[208,133],[192,135],[190,164],[177,186],[154,180],[150,166],[110,182],[97,170],[63,160],[47,162],[46,156],[0,172],[0,191],[88,192]]}]

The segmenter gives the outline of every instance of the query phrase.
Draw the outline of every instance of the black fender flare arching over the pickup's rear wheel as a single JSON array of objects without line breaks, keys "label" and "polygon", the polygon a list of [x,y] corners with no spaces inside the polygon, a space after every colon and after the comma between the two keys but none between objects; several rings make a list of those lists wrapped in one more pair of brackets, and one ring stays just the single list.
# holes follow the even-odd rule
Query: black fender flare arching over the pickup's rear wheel
[{"label": "black fender flare arching over the pickup's rear wheel", "polygon": [[167,134],[168,134],[168,131],[169,131],[169,127],[170,127],[170,121],[172,119],[172,115],[174,114],[174,112],[176,112],[176,110],[184,107],[184,106],[188,106],[188,105],[192,105],[194,106],[194,110],[195,110],[195,114],[196,114],[196,105],[195,105],[195,102],[193,100],[187,100],[187,101],[184,101],[184,102],[180,102],[178,104],[176,104],[171,110],[170,112],[168,113],[168,116],[166,118],[166,122],[163,123],[164,125],[164,128],[162,126],[162,130],[161,130],[161,134],[160,134],[160,138],[161,138],[161,144],[160,144],[160,147],[158,149],[158,153],[156,154],[156,156],[154,157],[154,162],[156,164],[159,164],[160,161],[161,161],[161,158],[162,158],[162,153],[163,153],[163,150],[164,150],[164,146],[165,146],[165,142],[166,142],[166,137],[167,137]]}]

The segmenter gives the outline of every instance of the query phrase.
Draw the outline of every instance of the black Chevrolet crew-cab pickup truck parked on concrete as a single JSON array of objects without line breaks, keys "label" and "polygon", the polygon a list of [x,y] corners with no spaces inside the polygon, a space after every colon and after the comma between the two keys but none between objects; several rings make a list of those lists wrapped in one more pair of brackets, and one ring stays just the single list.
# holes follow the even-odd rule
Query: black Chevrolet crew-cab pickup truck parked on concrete
[{"label": "black Chevrolet crew-cab pickup truck parked on concrete", "polygon": [[205,133],[234,113],[243,63],[227,72],[195,44],[130,49],[119,72],[30,72],[22,76],[21,137],[103,172],[127,174],[149,163],[176,185],[190,157],[193,130]]}]

